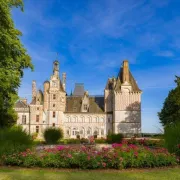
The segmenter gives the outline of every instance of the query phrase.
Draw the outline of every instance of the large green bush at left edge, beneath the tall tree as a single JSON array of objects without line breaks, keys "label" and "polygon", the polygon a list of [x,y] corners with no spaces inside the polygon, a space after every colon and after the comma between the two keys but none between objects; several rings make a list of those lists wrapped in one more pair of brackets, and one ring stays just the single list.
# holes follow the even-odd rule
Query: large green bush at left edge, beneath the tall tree
[{"label": "large green bush at left edge, beneath the tall tree", "polygon": [[21,127],[0,129],[0,156],[31,148],[33,141]]}]

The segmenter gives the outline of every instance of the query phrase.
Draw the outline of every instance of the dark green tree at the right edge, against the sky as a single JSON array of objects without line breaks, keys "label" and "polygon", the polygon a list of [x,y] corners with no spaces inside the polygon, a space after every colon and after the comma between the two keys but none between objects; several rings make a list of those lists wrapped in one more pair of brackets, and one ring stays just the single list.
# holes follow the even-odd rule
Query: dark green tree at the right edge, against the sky
[{"label": "dark green tree at the right edge, against the sky", "polygon": [[163,126],[180,121],[180,77],[176,76],[175,83],[177,87],[169,92],[161,112],[158,113]]}]

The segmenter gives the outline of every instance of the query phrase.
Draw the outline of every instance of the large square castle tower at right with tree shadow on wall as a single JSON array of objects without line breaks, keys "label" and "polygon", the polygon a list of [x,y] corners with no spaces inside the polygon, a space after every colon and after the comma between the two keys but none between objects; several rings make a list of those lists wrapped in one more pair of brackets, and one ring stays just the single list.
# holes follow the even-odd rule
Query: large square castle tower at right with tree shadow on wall
[{"label": "large square castle tower at right with tree shadow on wall", "polygon": [[140,133],[142,91],[129,70],[127,60],[123,61],[120,68],[113,93],[114,133]]}]

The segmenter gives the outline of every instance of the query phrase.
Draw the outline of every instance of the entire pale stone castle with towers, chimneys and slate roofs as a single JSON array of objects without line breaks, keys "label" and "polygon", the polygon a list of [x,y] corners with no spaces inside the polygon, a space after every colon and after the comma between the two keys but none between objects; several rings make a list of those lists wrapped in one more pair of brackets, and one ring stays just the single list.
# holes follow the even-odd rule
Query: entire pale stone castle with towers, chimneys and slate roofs
[{"label": "entire pale stone castle with towers, chimneys and slate roofs", "polygon": [[66,94],[66,73],[59,77],[59,62],[53,63],[53,74],[44,82],[44,90],[32,82],[32,101],[21,98],[15,104],[17,124],[42,137],[47,127],[60,127],[65,138],[106,137],[108,133],[141,132],[141,93],[128,61],[123,61],[117,78],[109,78],[104,96],[90,96],[83,84]]}]

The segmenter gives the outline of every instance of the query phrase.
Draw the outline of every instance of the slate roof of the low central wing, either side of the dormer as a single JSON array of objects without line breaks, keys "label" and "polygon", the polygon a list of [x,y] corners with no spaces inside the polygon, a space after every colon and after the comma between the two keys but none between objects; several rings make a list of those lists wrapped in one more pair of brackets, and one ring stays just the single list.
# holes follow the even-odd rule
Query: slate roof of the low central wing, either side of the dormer
[{"label": "slate roof of the low central wing, either side of the dormer", "polygon": [[[66,112],[81,113],[82,98],[78,96],[67,96]],[[103,113],[104,112],[104,97],[89,97],[88,113]]]}]

